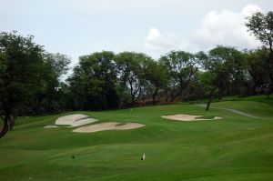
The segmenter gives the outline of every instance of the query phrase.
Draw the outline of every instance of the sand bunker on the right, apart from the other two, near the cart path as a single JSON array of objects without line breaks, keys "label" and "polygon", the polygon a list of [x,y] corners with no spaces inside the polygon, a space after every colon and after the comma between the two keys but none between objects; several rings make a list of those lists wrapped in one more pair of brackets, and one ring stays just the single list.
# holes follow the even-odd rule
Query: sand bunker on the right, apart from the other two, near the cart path
[{"label": "sand bunker on the right, apart from the other two, near the cart path", "polygon": [[214,119],[222,118],[222,117],[215,116],[212,119],[206,119],[206,118],[198,118],[202,116],[187,115],[187,114],[177,114],[177,115],[161,116],[161,117],[166,119],[177,120],[177,121],[205,121],[205,120],[214,120]]}]

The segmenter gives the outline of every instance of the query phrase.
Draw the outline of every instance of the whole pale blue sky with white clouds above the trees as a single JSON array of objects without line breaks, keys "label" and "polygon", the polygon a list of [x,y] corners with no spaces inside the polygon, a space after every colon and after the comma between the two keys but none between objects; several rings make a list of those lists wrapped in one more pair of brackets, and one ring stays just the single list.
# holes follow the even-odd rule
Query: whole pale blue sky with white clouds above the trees
[{"label": "whole pale blue sky with white clouds above the trees", "polygon": [[72,58],[110,50],[154,58],[216,45],[257,48],[246,17],[272,0],[0,0],[0,32],[34,35],[50,53]]}]

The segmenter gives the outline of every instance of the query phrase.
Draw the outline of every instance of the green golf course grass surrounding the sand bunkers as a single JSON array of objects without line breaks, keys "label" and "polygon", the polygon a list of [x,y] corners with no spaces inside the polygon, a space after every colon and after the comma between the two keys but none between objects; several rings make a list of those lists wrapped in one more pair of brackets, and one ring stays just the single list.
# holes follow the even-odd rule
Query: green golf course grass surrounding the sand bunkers
[{"label": "green golf course grass surrounding the sand bunkers", "polygon": [[[212,106],[261,118],[186,104],[20,118],[0,139],[0,180],[273,180],[273,107],[247,100]],[[96,123],[146,126],[90,134],[43,128],[72,113],[99,119]],[[160,117],[180,113],[223,118],[179,122]]]}]

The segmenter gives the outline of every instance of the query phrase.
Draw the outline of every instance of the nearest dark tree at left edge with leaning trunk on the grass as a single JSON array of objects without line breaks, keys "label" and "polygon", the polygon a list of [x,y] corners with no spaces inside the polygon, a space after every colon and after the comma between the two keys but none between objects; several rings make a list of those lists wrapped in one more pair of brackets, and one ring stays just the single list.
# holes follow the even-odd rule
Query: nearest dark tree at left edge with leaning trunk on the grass
[{"label": "nearest dark tree at left edge with leaning trunk on the grass", "polygon": [[0,108],[4,126],[0,137],[15,125],[15,116],[43,86],[43,48],[33,36],[0,34]]}]

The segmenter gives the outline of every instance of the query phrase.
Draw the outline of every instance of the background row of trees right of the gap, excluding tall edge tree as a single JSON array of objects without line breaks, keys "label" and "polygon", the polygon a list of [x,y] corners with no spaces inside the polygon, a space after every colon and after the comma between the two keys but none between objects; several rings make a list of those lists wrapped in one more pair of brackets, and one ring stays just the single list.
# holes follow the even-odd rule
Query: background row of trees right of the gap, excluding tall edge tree
[{"label": "background row of trees right of the gap, excluding tall edge tree", "polygon": [[239,51],[222,45],[197,54],[171,51],[158,60],[103,51],[80,57],[66,91],[76,110],[270,94],[267,60],[265,48]]}]

